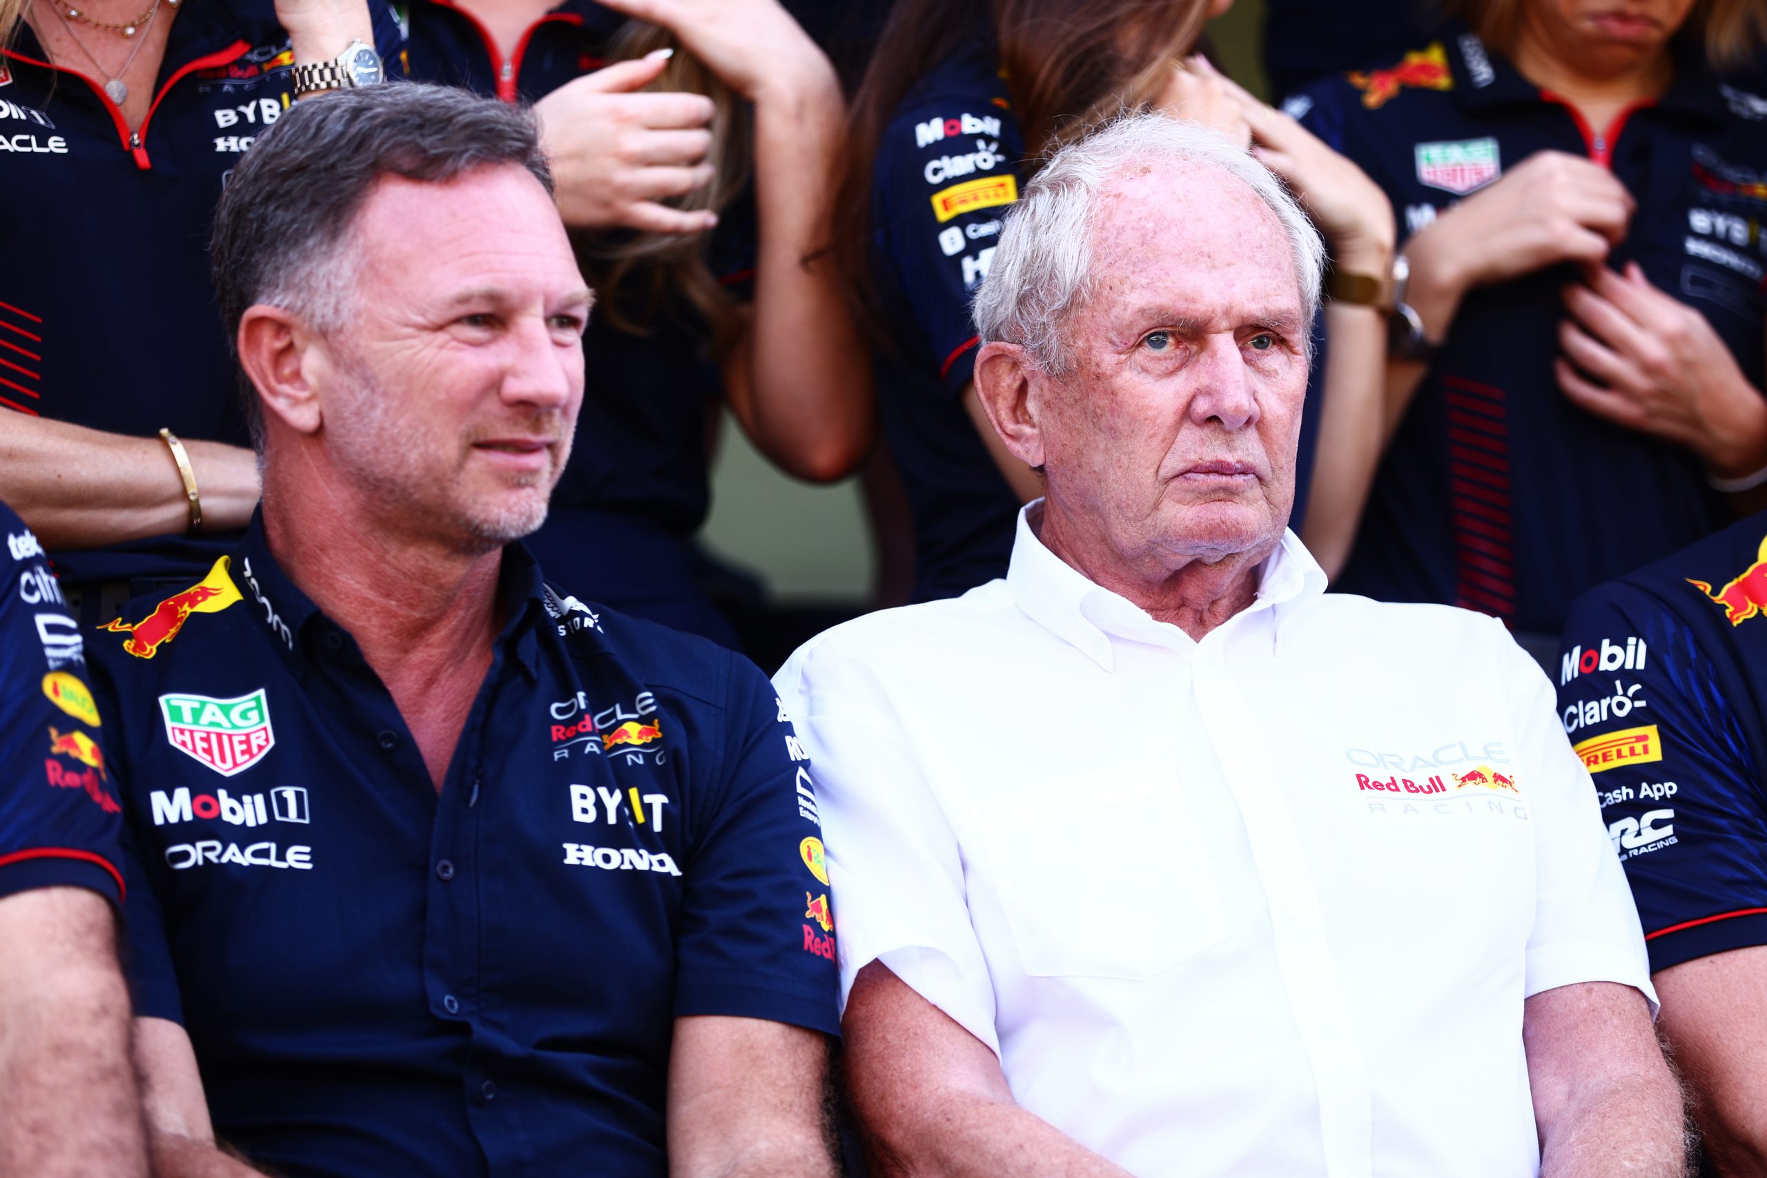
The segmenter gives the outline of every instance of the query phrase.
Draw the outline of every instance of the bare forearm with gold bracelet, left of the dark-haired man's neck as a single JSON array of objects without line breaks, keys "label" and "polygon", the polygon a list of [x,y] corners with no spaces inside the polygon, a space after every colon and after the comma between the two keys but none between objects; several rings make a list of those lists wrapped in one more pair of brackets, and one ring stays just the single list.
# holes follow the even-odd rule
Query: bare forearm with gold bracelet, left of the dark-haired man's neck
[{"label": "bare forearm with gold bracelet, left of the dark-haired man's neck", "polygon": [[[258,503],[251,450],[184,440],[201,496],[203,528],[240,528]],[[184,532],[189,502],[171,450],[67,422],[0,415],[0,500],[49,549],[99,547]]]}]

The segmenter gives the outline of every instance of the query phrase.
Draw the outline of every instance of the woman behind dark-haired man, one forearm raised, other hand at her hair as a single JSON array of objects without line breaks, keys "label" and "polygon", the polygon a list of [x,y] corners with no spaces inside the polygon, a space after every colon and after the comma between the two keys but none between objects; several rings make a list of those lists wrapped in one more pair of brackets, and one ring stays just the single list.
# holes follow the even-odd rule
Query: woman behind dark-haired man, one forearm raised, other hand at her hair
[{"label": "woman behind dark-haired man, one forearm raised, other hand at her hair", "polygon": [[800,479],[871,445],[825,258],[834,67],[776,0],[415,0],[410,39],[413,78],[535,104],[597,288],[574,454],[530,546],[585,599],[737,645],[691,542],[721,404]]}]

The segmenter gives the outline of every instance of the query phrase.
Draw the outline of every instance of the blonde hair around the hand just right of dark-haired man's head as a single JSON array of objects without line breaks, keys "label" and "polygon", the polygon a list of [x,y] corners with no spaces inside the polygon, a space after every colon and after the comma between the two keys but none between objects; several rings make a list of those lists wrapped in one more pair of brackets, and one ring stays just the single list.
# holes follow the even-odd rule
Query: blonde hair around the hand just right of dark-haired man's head
[{"label": "blonde hair around the hand just right of dark-haired man's head", "polygon": [[[9,4],[11,0],[0,0]],[[627,21],[608,44],[608,60],[640,58],[654,49],[675,49],[668,67],[645,90],[703,94],[712,99],[712,182],[661,203],[682,210],[724,208],[747,187],[755,164],[753,118],[742,97],[703,62],[682,49],[675,35],[645,21]],[[737,300],[707,261],[710,233],[573,231],[578,265],[597,291],[595,314],[631,336],[647,336],[673,298],[686,302],[712,328],[712,351],[728,355],[742,332]]]}]

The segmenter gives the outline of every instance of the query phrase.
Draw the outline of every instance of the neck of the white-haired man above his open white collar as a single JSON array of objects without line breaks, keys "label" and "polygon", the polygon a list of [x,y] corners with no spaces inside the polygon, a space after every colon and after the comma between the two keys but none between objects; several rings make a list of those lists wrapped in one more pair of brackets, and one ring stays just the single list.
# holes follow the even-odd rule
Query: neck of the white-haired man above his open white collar
[{"label": "neck of the white-haired man above his open white collar", "polygon": [[1126,597],[1156,622],[1168,622],[1194,641],[1223,625],[1258,595],[1258,565],[1274,546],[1258,551],[1193,556],[1173,569],[1170,553],[1154,549],[1140,562],[1124,560],[1104,539],[1103,528],[1069,519],[1044,507],[1034,521],[1037,539],[1064,563],[1094,585]]}]

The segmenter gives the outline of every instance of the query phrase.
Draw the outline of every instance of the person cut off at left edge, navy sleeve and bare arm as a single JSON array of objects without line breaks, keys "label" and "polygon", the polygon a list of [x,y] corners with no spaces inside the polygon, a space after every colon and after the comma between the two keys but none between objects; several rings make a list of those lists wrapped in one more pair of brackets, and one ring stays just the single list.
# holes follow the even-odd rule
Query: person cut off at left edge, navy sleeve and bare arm
[{"label": "person cut off at left edge, navy sleeve and bare arm", "polygon": [[60,585],[5,503],[0,537],[0,1174],[138,1178],[122,807]]}]

